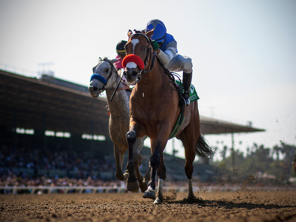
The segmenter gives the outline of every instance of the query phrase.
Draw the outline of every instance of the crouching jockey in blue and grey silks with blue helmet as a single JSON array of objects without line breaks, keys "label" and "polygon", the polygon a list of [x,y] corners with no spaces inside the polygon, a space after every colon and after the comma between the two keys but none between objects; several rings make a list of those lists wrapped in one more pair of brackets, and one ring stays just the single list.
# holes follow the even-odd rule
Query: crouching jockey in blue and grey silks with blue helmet
[{"label": "crouching jockey in blue and grey silks with blue helmet", "polygon": [[146,25],[147,30],[154,29],[152,47],[157,50],[156,54],[161,63],[169,71],[183,71],[183,98],[186,106],[190,104],[190,86],[192,80],[192,62],[191,58],[178,54],[177,42],[174,37],[166,32],[165,25],[158,19],[152,19]]}]

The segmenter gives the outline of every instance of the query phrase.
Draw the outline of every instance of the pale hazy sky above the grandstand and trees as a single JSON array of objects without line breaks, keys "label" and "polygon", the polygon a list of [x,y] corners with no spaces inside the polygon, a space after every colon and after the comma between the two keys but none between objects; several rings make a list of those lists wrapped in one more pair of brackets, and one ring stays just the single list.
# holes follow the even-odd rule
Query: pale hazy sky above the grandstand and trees
[{"label": "pale hazy sky above the grandstand and trees", "polygon": [[[294,0],[0,0],[0,68],[27,76],[52,70],[88,86],[98,58],[115,58],[128,30],[154,18],[174,36],[179,54],[192,59],[200,116],[266,130],[235,133],[235,149],[296,144]],[[230,134],[205,138],[231,147]],[[173,143],[184,157],[178,140],[165,151]]]}]

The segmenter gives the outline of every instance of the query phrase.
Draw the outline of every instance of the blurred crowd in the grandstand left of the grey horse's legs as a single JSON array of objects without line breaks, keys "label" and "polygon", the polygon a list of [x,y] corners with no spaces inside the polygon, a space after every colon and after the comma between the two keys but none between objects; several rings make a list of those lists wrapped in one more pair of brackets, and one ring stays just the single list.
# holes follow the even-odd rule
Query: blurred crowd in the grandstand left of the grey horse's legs
[{"label": "blurred crowd in the grandstand left of the grey horse's legs", "polygon": [[90,154],[75,151],[46,151],[1,146],[0,186],[114,184],[110,179],[115,181],[115,178],[106,178],[104,173],[114,177],[115,161],[97,159]]}]

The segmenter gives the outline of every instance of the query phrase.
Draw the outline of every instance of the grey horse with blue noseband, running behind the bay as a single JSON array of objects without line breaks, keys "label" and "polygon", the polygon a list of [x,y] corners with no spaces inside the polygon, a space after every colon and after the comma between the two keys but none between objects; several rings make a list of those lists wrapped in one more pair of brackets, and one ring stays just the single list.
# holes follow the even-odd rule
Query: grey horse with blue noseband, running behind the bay
[{"label": "grey horse with blue noseband, running behind the bay", "polygon": [[[129,87],[120,81],[118,91],[114,95],[112,102],[110,102],[113,91],[120,80],[120,76],[113,65],[116,60],[117,59],[108,60],[107,58],[99,58],[98,64],[93,68],[94,74],[91,76],[88,91],[91,97],[98,98],[98,96],[106,90],[107,105],[110,112],[109,134],[110,139],[114,143],[114,157],[116,164],[115,177],[118,180],[123,181],[128,177],[127,172],[123,174],[122,166],[124,154],[128,150],[126,132],[128,131],[129,123],[129,98],[131,90],[128,90]],[[119,71],[121,72],[121,70]],[[143,160],[140,151],[143,147],[144,139],[145,137],[137,138],[135,142],[135,149],[133,151],[133,155],[135,156],[134,164],[136,166],[134,173],[137,175],[142,192],[147,189],[147,181],[149,180],[149,174],[151,172],[149,167],[146,175],[143,177],[139,170]]]}]

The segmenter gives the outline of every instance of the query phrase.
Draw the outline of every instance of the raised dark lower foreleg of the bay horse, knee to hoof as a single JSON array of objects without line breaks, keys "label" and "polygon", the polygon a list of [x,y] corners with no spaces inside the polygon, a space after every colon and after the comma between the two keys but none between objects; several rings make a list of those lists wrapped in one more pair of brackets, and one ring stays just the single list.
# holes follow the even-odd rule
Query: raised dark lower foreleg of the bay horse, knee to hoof
[{"label": "raised dark lower foreleg of the bay horse, knee to hoof", "polygon": [[137,191],[139,189],[139,183],[135,176],[135,164],[133,163],[133,146],[136,142],[136,131],[133,129],[129,130],[126,134],[126,141],[128,143],[128,164],[126,168],[128,169],[128,178],[126,183],[126,189],[128,191]]}]

